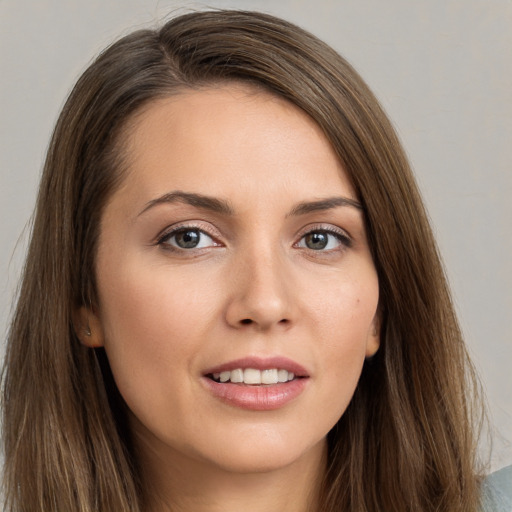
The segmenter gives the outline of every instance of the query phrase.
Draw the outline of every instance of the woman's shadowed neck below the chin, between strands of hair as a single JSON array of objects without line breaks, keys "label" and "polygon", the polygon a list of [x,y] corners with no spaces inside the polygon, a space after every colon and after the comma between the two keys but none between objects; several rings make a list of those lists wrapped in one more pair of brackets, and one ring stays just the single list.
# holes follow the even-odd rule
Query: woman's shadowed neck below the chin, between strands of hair
[{"label": "woman's shadowed neck below the chin, between strands of hair", "polygon": [[[144,443],[145,445],[145,443]],[[326,443],[284,467],[240,472],[140,446],[147,512],[314,512],[325,474]]]}]

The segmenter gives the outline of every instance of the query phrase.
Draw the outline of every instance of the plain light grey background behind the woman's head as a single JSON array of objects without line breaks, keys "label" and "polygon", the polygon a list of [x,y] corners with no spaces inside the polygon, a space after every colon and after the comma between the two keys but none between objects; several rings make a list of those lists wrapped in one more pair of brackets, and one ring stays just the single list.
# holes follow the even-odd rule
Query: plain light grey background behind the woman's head
[{"label": "plain light grey background behind the woman's head", "polygon": [[333,45],[410,156],[512,463],[512,0],[0,0],[0,334],[49,135],[70,87],[119,35],[193,8],[274,13]]}]

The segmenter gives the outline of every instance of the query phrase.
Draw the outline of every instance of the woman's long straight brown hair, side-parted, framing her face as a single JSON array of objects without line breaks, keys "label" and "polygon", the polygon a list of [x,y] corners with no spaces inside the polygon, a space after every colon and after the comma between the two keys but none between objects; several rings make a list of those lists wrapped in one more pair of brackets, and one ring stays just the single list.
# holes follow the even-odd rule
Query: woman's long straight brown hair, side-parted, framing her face
[{"label": "woman's long straight brown hair, side-parted, framing her face", "polygon": [[319,509],[475,511],[476,380],[395,132],[334,50],[241,11],[187,14],[124,37],[64,106],[8,335],[4,510],[142,510],[122,399],[102,349],[78,341],[72,312],[95,304],[100,219],[123,176],[128,121],[158,97],[230,80],[287,99],[323,129],[364,206],[378,271],[381,348],[329,433]]}]

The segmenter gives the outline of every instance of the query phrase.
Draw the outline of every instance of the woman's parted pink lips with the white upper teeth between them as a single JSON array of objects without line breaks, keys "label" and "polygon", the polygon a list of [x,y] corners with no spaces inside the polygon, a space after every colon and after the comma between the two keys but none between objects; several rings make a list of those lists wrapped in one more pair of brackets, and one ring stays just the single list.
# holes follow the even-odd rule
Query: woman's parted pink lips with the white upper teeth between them
[{"label": "woman's parted pink lips with the white upper teeth between them", "polygon": [[257,411],[284,407],[306,388],[308,372],[284,357],[248,357],[203,374],[207,389],[228,405]]}]

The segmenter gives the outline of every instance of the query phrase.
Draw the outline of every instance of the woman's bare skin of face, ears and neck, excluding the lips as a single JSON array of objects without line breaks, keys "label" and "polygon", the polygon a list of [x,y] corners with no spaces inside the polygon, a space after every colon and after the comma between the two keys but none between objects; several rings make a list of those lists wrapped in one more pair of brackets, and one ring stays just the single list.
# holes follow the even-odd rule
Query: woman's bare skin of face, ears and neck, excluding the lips
[{"label": "woman's bare skin of face, ears and neck, excluding the lips", "polygon": [[[101,223],[99,302],[76,317],[91,330],[83,343],[105,347],[131,411],[148,510],[314,510],[326,434],[379,347],[361,209],[298,209],[356,201],[341,163],[301,110],[236,84],[150,104],[125,148]],[[155,202],[175,191],[231,212]],[[184,226],[198,248],[164,237]],[[319,230],[328,245],[312,249],[306,235]],[[296,361],[303,392],[271,411],[213,396],[205,370],[247,356]]]}]

